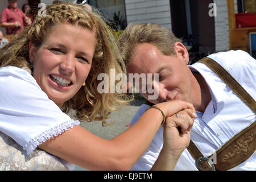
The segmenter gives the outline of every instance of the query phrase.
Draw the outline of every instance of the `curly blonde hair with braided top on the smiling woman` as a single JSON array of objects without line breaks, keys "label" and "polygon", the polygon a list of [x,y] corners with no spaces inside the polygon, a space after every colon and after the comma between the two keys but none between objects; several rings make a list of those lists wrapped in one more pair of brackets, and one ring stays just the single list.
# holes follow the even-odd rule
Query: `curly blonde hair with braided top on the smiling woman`
[{"label": "curly blonde hair with braided top on the smiling woman", "polygon": [[[94,10],[95,11],[95,10]],[[115,38],[100,14],[87,11],[84,6],[74,5],[69,2],[57,3],[46,7],[46,16],[37,15],[32,26],[27,27],[18,36],[11,39],[10,43],[0,50],[1,67],[15,66],[30,69],[28,57],[31,42],[40,47],[48,33],[58,23],[78,24],[95,32],[96,49],[93,56],[92,68],[76,95],[63,105],[63,111],[76,110],[76,117],[81,121],[102,121],[109,118],[113,110],[121,109],[131,98],[125,94],[97,92],[100,83],[97,76],[100,73],[110,75],[110,69],[115,69],[115,74],[126,73]]]}]

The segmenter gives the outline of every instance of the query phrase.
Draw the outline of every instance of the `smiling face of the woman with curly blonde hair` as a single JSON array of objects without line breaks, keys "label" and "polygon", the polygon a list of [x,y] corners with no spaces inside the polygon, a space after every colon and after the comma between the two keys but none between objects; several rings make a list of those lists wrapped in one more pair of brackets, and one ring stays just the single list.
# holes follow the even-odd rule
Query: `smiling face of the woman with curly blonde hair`
[{"label": "smiling face of the woman with curly blonde hair", "polygon": [[68,23],[55,26],[39,48],[30,43],[33,76],[59,107],[85,82],[95,46],[94,32]]}]

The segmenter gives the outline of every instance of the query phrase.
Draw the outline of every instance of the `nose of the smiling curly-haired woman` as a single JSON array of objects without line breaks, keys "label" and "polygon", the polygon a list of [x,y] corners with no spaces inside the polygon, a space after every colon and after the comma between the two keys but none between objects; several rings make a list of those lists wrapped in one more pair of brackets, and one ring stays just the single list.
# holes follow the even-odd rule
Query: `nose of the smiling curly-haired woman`
[{"label": "nose of the smiling curly-haired woman", "polygon": [[72,55],[66,55],[63,57],[60,63],[60,69],[65,74],[73,73],[75,71],[75,57]]}]

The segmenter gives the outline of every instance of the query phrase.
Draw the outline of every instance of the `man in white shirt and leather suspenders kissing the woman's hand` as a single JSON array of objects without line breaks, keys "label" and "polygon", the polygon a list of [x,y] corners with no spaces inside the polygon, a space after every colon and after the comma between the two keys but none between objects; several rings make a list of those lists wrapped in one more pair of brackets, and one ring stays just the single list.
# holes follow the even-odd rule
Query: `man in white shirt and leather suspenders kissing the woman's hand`
[{"label": "man in white shirt and leather suspenders kissing the woman's hand", "polygon": [[[153,104],[169,100],[184,100],[193,104],[197,118],[192,127],[191,139],[204,156],[213,154],[213,163],[214,152],[255,121],[255,113],[207,65],[187,65],[187,49],[166,28],[153,23],[130,24],[119,37],[118,43],[129,73],[159,74],[159,82],[152,81],[152,86],[158,87],[159,97],[149,100],[150,94],[141,93],[143,97]],[[256,60],[253,57],[243,51],[219,52],[208,57],[224,67],[255,100]],[[139,108],[131,125],[148,107],[144,104]],[[254,139],[255,134],[252,135]],[[230,157],[245,154],[250,142],[238,142],[237,146],[234,145],[237,148],[233,149],[233,153],[229,153]],[[163,152],[162,146],[163,129],[160,128],[150,147],[132,169],[151,169],[159,153]],[[196,167],[195,161],[186,149],[175,170],[200,169]],[[243,161],[232,169],[256,169],[254,151],[249,159]],[[162,160],[162,169],[168,163],[170,161]]]}]

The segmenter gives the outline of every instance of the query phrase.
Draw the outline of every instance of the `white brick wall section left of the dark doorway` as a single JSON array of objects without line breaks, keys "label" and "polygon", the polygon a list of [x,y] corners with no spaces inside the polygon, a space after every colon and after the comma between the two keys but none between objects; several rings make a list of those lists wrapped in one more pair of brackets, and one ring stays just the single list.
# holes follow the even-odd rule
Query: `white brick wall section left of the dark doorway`
[{"label": "white brick wall section left of the dark doorway", "polygon": [[169,0],[125,0],[127,24],[158,23],[171,30]]}]

